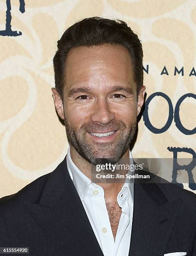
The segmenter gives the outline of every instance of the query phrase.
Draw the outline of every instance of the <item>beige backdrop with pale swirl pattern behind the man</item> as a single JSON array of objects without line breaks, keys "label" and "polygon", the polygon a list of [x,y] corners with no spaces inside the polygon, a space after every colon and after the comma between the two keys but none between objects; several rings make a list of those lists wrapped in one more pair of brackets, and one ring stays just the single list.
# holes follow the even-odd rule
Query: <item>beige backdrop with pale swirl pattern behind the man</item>
[{"label": "beige backdrop with pale swirl pattern behind the man", "polygon": [[[173,108],[186,93],[196,93],[196,2],[193,0],[11,0],[12,30],[21,36],[0,36],[0,197],[13,194],[39,176],[53,171],[64,159],[68,143],[56,115],[52,59],[56,41],[81,18],[102,16],[125,20],[142,40],[147,98],[164,92]],[[0,30],[5,29],[6,1],[0,0]],[[168,74],[160,75],[163,67]],[[184,76],[174,68],[184,67]],[[156,97],[149,105],[152,124],[161,128],[168,104]],[[196,101],[181,104],[181,122],[196,126]],[[196,151],[196,135],[185,135],[174,120],[164,133],[154,134],[139,123],[134,157],[172,158],[168,146]],[[186,157],[184,153],[181,157]],[[187,154],[190,157],[190,154]],[[195,174],[194,174],[195,175]],[[196,177],[195,177],[196,180]],[[184,184],[188,189],[188,184]]]}]

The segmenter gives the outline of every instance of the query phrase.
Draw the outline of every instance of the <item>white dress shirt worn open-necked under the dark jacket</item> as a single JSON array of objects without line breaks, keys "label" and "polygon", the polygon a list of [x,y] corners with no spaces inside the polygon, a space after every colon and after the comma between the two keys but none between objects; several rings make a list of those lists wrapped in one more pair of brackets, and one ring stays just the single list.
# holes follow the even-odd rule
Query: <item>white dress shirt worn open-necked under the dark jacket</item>
[{"label": "white dress shirt worn open-necked under the dark jacket", "polygon": [[[70,148],[67,152],[66,161],[69,175],[74,182],[104,256],[127,256],[132,228],[133,182],[124,183],[117,196],[117,203],[122,208],[122,213],[114,241],[104,200],[104,189],[93,183],[76,167],[71,160]],[[130,161],[132,161],[131,152]]]}]

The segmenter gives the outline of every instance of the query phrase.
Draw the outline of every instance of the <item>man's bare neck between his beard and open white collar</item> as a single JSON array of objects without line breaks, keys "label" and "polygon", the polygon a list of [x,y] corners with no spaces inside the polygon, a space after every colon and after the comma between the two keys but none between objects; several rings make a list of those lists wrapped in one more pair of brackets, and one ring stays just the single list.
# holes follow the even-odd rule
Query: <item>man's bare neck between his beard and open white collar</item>
[{"label": "man's bare neck between his beard and open white collar", "polygon": [[[91,179],[91,169],[92,164],[90,164],[86,159],[84,159],[78,152],[75,150],[74,147],[70,145],[70,154],[71,159],[74,162],[74,164],[78,167],[78,169],[84,173],[89,179]],[[125,152],[125,154],[122,156],[122,160],[124,164],[129,164],[129,148]],[[127,172],[127,170],[125,170]],[[117,195],[122,189],[124,182],[122,183],[99,183],[99,186],[101,186],[104,189],[104,198],[105,201],[108,202],[115,202],[117,200]]]}]

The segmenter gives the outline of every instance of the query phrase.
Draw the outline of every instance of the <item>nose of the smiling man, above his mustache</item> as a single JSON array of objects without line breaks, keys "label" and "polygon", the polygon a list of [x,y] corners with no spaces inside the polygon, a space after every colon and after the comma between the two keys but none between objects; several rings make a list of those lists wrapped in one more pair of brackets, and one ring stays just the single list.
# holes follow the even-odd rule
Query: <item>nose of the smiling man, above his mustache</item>
[{"label": "nose of the smiling man, above his mustache", "polygon": [[97,100],[96,105],[94,105],[93,108],[91,114],[91,120],[93,122],[99,122],[104,125],[115,118],[115,113],[106,99]]}]

